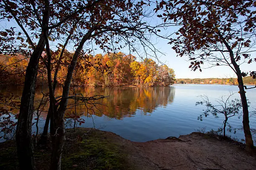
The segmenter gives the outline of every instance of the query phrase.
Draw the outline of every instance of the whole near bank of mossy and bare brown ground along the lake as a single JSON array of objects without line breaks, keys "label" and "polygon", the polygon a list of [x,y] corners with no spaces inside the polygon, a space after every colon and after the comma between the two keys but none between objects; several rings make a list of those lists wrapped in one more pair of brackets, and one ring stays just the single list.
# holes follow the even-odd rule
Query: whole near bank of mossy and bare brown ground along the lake
[{"label": "whole near bank of mossy and bare brown ground along the lake", "polygon": [[[63,170],[253,170],[256,166],[256,154],[246,153],[244,144],[204,133],[141,143],[107,131],[77,128],[75,132],[67,129],[66,139]],[[0,169],[18,168],[15,141],[0,143],[0,152]],[[45,165],[49,165],[50,158],[50,145],[35,147],[37,169],[48,169]]]}]

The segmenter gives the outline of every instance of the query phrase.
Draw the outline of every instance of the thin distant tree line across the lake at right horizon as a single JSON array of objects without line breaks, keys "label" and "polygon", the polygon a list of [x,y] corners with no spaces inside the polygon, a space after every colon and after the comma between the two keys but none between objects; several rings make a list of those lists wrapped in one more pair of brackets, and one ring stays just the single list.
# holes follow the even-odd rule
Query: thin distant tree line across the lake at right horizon
[{"label": "thin distant tree line across the lake at right horizon", "polygon": [[[238,85],[236,78],[177,78],[177,84],[224,84]],[[256,85],[256,80],[251,76],[243,77],[243,83],[246,85]]]}]

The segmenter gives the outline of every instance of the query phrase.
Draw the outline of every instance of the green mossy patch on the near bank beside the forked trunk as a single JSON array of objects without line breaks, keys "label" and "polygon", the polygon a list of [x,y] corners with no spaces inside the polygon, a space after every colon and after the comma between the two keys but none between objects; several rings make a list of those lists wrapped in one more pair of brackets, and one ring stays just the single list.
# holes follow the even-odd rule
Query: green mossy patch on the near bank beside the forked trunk
[{"label": "green mossy patch on the near bank beside the forked trunk", "polygon": [[[118,150],[118,145],[109,141],[92,138],[79,142],[79,152],[63,155],[63,170],[127,170],[125,155]],[[77,167],[73,167],[77,165]]]}]

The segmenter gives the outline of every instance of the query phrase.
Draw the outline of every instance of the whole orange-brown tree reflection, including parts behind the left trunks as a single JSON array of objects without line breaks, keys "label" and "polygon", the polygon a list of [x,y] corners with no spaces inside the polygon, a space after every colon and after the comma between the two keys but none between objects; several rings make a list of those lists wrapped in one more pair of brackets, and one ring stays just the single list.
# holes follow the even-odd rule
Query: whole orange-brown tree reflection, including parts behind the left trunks
[{"label": "whole orange-brown tree reflection, including parts behind the left trunks", "polygon": [[[0,93],[14,93],[21,97],[22,87],[6,87],[0,90]],[[44,87],[43,92],[47,92],[47,87]],[[56,89],[55,95],[61,96],[62,88]],[[87,105],[94,112],[89,110],[83,102],[77,102],[76,112],[78,115],[91,116],[106,115],[111,118],[123,119],[124,117],[132,117],[137,110],[141,110],[144,115],[151,114],[157,107],[166,107],[172,103],[175,95],[175,87],[84,87],[72,88],[70,95],[82,94],[83,96],[104,95],[108,96],[104,99],[95,101],[96,107]],[[41,89],[38,88],[35,94],[34,107],[37,108],[39,101],[43,97]],[[74,100],[69,100],[66,116],[74,114]],[[46,117],[48,106],[42,108],[41,117]],[[18,113],[18,110],[14,110]]]}]

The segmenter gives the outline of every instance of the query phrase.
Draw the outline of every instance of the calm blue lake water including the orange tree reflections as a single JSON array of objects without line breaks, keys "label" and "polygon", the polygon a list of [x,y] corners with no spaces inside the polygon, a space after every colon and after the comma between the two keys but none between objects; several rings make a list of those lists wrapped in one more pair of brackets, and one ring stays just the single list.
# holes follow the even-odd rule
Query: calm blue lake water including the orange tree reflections
[{"label": "calm blue lake water including the orange tree reflections", "polygon": [[[5,89],[21,95],[21,90]],[[212,103],[236,92],[233,98],[240,98],[237,86],[230,85],[172,85],[169,87],[85,87],[78,88],[75,92],[84,96],[105,95],[104,99],[97,100],[97,109],[94,108],[87,114],[86,107],[77,105],[77,113],[82,114],[85,120],[80,127],[98,128],[110,131],[125,139],[145,142],[169,136],[186,135],[192,132],[218,130],[223,125],[223,117],[215,118],[212,115],[204,117],[203,121],[197,117],[206,107],[195,103],[200,100],[199,95],[207,95]],[[36,100],[40,99],[40,90]],[[61,88],[56,90],[61,94]],[[72,94],[72,93],[71,93]],[[246,90],[246,96],[251,102],[249,110],[256,108],[256,89]],[[37,99],[38,98],[38,99]],[[66,114],[74,113],[74,102],[69,101]],[[90,108],[90,105],[89,105]],[[46,109],[47,110],[47,109]],[[39,126],[44,125],[46,112],[42,112]],[[233,128],[238,128],[236,134],[229,133],[232,138],[244,139],[242,117],[231,117],[228,120]],[[73,126],[72,122],[66,123],[67,128]],[[79,125],[78,125],[79,126]],[[256,116],[250,117],[251,128],[256,129]],[[35,127],[32,128],[35,131]],[[255,138],[254,138],[255,141]]]}]

